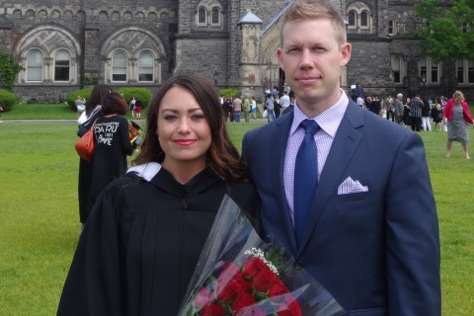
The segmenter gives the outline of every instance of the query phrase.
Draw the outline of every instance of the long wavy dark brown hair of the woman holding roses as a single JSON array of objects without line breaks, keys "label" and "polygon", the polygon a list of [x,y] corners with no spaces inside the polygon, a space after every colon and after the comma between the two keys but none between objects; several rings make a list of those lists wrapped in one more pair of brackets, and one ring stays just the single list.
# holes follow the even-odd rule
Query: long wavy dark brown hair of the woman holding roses
[{"label": "long wavy dark brown hair of the woman holding roses", "polygon": [[165,153],[156,135],[158,113],[164,96],[173,87],[186,89],[196,98],[209,124],[212,141],[207,152],[208,167],[227,181],[245,180],[245,167],[227,134],[217,91],[208,79],[196,75],[177,75],[168,79],[153,97],[147,115],[145,140],[134,163],[163,162]]}]

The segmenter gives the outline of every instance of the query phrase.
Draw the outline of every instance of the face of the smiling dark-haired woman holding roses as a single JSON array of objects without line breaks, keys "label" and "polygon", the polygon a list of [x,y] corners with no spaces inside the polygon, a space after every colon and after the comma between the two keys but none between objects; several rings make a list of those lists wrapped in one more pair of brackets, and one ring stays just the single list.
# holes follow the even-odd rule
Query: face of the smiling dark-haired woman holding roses
[{"label": "face of the smiling dark-haired woman holding roses", "polygon": [[186,89],[173,87],[166,92],[158,111],[156,134],[165,152],[163,165],[206,166],[211,146],[211,129],[194,96]]}]

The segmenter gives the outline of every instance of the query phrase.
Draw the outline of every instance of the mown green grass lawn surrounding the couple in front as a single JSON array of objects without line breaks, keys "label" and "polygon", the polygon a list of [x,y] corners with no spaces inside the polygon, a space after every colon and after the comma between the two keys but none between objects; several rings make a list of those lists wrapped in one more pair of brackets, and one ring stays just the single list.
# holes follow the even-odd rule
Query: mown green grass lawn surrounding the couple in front
[{"label": "mown green grass lawn surrounding the couple in front", "polygon": [[[240,147],[257,125],[230,124],[233,141]],[[1,315],[55,313],[79,233],[75,133],[74,123],[0,124]],[[471,316],[474,160],[458,144],[445,158],[443,132],[422,136],[440,218],[443,314]]]}]

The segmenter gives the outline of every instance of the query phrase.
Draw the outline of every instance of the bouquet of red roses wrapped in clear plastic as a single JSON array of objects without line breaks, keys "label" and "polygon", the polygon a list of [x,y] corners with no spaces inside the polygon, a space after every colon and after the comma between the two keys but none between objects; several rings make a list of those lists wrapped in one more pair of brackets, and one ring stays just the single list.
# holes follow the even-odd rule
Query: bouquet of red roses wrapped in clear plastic
[{"label": "bouquet of red roses wrapped in clear plastic", "polygon": [[263,241],[224,198],[180,316],[335,316],[343,310],[291,256]]}]

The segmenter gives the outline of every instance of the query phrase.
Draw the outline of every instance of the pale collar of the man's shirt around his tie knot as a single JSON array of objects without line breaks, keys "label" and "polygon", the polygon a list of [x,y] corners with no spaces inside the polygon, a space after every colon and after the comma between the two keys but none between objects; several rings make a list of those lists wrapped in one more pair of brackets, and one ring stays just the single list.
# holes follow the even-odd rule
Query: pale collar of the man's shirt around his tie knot
[{"label": "pale collar of the man's shirt around his tie knot", "polygon": [[314,120],[318,123],[319,127],[329,136],[334,138],[336,136],[337,129],[341,124],[344,113],[346,112],[347,106],[349,105],[349,98],[347,97],[344,90],[341,89],[341,96],[339,100],[331,105],[324,112],[319,113],[316,117],[307,117],[296,104],[294,108],[293,123],[291,124],[290,135],[296,132],[301,122],[306,119]]}]

